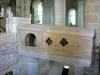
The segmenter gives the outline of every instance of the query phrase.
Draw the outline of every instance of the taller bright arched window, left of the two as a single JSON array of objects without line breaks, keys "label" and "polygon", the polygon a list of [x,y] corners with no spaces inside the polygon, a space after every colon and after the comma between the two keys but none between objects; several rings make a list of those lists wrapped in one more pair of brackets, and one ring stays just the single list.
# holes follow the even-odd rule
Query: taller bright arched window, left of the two
[{"label": "taller bright arched window, left of the two", "polygon": [[41,1],[33,1],[31,5],[31,19],[34,24],[42,24],[43,7]]}]

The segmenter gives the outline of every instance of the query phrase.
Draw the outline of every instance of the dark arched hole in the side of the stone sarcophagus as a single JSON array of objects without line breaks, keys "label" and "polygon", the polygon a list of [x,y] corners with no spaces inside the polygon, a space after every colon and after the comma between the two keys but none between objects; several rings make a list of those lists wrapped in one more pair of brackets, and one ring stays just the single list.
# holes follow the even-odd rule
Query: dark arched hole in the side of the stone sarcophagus
[{"label": "dark arched hole in the side of the stone sarcophagus", "polygon": [[28,33],[25,37],[26,46],[36,46],[36,36],[33,33]]}]

